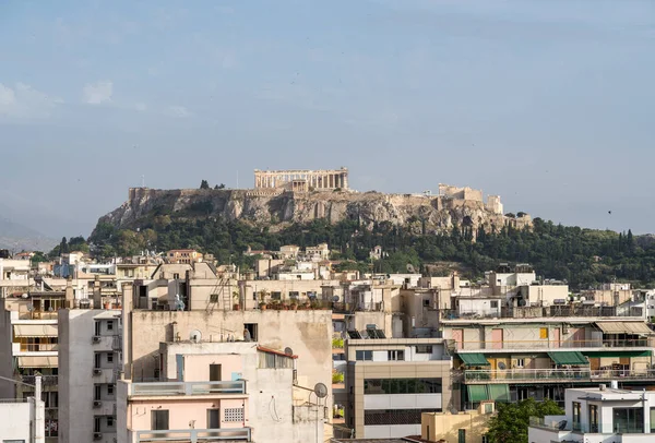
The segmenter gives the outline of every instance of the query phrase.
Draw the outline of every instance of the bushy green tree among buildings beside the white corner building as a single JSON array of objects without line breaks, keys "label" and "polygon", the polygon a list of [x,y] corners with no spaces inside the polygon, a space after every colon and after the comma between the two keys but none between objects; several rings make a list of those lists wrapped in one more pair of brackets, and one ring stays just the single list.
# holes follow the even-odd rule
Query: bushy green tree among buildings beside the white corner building
[{"label": "bushy green tree among buildings beside the white corner building", "polygon": [[551,399],[535,402],[527,398],[519,403],[498,403],[498,414],[489,420],[489,442],[527,443],[531,417],[561,416],[564,410]]}]

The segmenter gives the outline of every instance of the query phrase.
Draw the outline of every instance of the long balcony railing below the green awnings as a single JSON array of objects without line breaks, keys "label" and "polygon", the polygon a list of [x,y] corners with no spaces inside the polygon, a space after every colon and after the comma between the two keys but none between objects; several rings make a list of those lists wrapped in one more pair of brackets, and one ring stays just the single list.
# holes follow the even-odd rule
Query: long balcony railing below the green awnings
[{"label": "long balcony railing below the green awnings", "polygon": [[596,382],[610,380],[652,380],[655,370],[590,370],[590,369],[512,369],[512,370],[466,370],[467,384],[493,384],[508,382],[560,383],[563,381]]}]

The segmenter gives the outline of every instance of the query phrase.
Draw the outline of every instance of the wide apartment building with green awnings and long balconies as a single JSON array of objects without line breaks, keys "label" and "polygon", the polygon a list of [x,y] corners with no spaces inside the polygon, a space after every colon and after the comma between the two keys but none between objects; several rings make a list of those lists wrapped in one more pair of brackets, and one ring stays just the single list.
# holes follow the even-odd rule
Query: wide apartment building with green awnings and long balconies
[{"label": "wide apartment building with green awnings and long balconies", "polygon": [[528,397],[563,404],[567,387],[609,380],[655,383],[655,333],[641,318],[442,320],[442,331],[467,408]]}]

